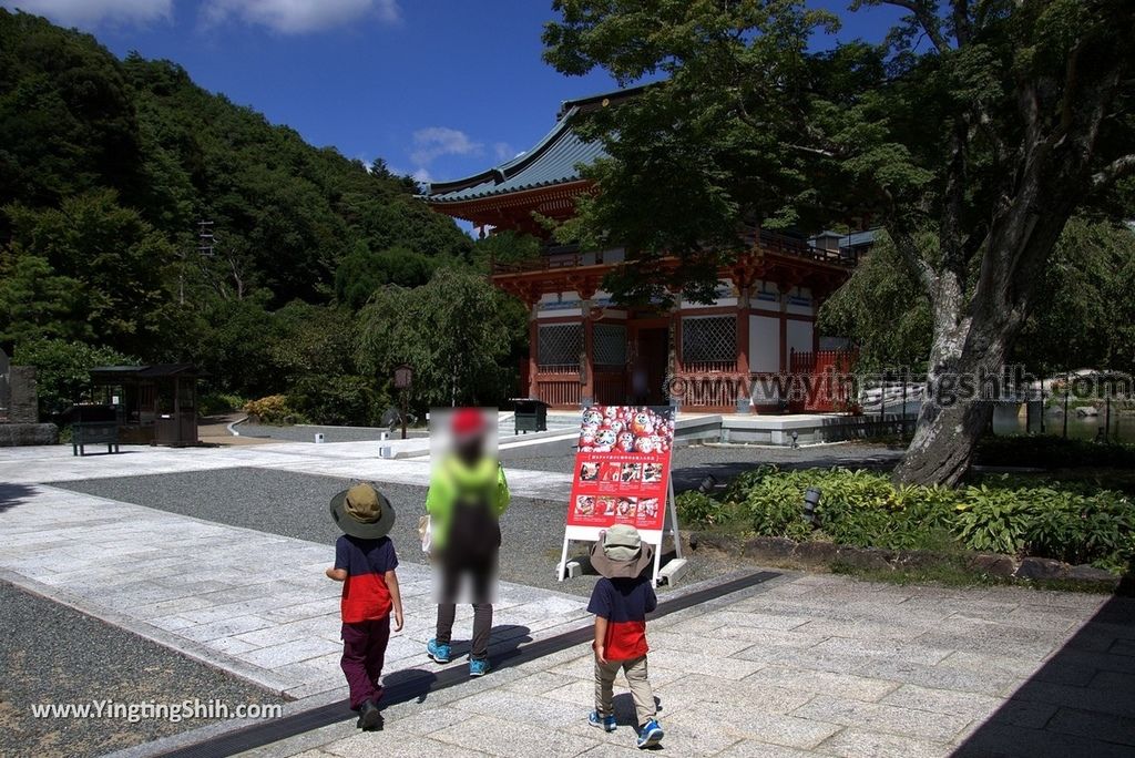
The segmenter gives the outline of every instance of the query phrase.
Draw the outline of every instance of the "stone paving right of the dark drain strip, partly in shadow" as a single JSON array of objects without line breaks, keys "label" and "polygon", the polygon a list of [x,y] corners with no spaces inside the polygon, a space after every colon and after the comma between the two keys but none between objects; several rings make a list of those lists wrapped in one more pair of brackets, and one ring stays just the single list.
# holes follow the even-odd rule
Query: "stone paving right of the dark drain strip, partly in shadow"
[{"label": "stone paving right of the dark drain strip, partly in shadow", "polygon": [[[1077,634],[1105,603],[1112,616]],[[662,751],[1130,756],[1130,604],[784,576],[649,625]],[[620,728],[609,735],[585,721],[592,691],[590,651],[580,646],[393,706],[382,732],[345,721],[246,755],[638,753],[625,689],[616,688]]]}]

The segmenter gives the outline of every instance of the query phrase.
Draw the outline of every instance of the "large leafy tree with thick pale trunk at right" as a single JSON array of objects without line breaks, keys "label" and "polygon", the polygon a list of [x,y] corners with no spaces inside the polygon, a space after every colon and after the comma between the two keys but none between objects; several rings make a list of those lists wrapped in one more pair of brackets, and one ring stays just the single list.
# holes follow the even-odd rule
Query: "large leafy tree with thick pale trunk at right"
[{"label": "large leafy tree with thick pale trunk at right", "polygon": [[[998,373],[1069,217],[1130,213],[1130,0],[856,0],[891,6],[881,44],[835,42],[799,0],[555,0],[545,57],[564,74],[657,81],[580,125],[609,159],[585,239],[636,251],[634,300],[703,294],[745,224],[885,228],[930,301],[931,401],[897,477],[952,485],[990,414],[938,402]],[[674,256],[669,280],[655,259]]]}]

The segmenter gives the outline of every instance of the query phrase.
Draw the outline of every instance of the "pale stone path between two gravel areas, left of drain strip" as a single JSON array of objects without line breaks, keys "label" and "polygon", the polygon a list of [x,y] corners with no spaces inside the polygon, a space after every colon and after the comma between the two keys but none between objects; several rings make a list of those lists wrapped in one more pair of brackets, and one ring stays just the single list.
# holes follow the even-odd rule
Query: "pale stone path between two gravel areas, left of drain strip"
[{"label": "pale stone path between two gravel areas, left of drain strip", "polygon": [[[0,579],[288,697],[342,694],[330,546],[45,486],[0,499]],[[398,579],[406,626],[390,672],[420,663],[435,620],[429,568],[403,562]],[[495,645],[583,617],[583,598],[503,583]]]}]

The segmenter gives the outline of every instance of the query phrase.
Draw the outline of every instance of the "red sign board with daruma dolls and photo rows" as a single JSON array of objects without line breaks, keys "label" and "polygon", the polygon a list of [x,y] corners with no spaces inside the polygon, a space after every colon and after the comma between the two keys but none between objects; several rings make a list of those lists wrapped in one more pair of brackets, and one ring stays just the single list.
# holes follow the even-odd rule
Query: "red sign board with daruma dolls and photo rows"
[{"label": "red sign board with daruma dolls and photo rows", "polygon": [[674,443],[671,409],[592,405],[583,411],[569,527],[616,523],[662,530]]}]

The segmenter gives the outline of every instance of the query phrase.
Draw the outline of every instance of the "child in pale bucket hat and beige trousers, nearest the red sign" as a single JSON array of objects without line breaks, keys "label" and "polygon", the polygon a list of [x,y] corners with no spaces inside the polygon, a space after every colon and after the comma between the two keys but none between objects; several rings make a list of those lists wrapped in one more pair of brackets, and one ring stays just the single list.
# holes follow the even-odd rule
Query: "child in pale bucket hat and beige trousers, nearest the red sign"
[{"label": "child in pale bucket hat and beige trousers, nearest the red sign", "polygon": [[645,575],[653,559],[654,547],[628,524],[614,524],[591,546],[591,566],[603,578],[587,606],[595,614],[595,710],[588,723],[615,731],[614,683],[622,669],[634,700],[639,748],[658,744],[663,736],[646,664],[646,614],[658,605]]}]

